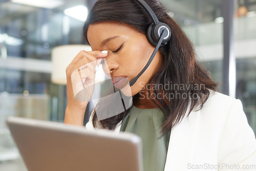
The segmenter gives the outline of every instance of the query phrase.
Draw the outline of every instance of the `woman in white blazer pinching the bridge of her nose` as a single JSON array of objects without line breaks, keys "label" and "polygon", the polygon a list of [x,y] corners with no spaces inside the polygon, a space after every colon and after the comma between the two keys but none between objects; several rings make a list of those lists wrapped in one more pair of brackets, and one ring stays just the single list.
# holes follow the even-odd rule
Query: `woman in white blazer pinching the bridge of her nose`
[{"label": "woman in white blazer pinching the bridge of her nose", "polygon": [[[131,108],[104,120],[94,110],[86,127],[139,135],[144,170],[233,170],[248,165],[254,167],[243,170],[255,170],[256,140],[241,101],[216,92],[217,84],[199,66],[181,28],[160,2],[145,2],[169,26],[171,38],[136,83],[121,88],[123,94],[130,88]],[[97,60],[104,59],[114,84],[115,78],[131,81],[138,75],[155,49],[145,36],[151,24],[151,17],[135,0],[99,0],[94,5],[84,25],[84,38],[93,51],[81,51],[66,70],[65,123],[82,125]],[[87,101],[74,96],[76,71],[90,86]]]}]

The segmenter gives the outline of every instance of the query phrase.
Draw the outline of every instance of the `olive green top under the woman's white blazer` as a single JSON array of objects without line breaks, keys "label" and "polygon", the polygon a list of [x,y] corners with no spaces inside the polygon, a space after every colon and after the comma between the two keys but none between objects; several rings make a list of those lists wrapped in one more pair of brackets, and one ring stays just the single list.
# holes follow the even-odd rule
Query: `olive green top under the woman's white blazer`
[{"label": "olive green top under the woman's white blazer", "polygon": [[159,138],[163,121],[159,108],[139,109],[133,105],[122,122],[120,131],[137,134],[142,139],[144,171],[164,170],[170,132]]}]

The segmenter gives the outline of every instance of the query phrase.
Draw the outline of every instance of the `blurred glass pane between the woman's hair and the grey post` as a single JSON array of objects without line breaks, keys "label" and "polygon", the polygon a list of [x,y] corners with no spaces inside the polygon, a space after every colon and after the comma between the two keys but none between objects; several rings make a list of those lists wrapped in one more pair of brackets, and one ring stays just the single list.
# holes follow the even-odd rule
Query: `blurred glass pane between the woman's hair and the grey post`
[{"label": "blurred glass pane between the woman's hair and the grey post", "polygon": [[221,1],[163,1],[176,22],[194,44],[197,59],[210,72],[212,79],[222,82],[223,17]]}]

